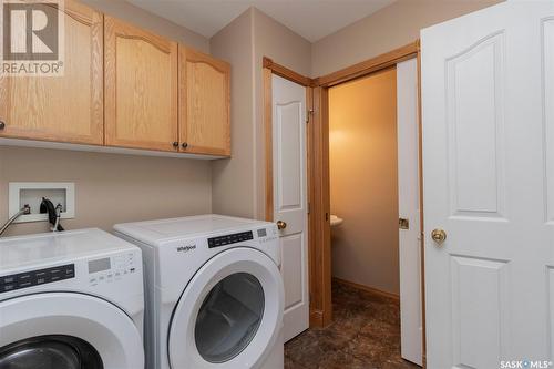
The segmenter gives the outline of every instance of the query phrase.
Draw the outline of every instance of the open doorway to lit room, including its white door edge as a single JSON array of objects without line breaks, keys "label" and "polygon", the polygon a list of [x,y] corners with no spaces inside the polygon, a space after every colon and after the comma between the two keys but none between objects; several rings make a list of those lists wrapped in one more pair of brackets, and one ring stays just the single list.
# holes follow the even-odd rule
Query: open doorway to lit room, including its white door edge
[{"label": "open doorway to lit room, including its white door edge", "polygon": [[328,101],[332,325],[365,344],[348,349],[367,363],[417,368],[417,61],[334,85]]}]

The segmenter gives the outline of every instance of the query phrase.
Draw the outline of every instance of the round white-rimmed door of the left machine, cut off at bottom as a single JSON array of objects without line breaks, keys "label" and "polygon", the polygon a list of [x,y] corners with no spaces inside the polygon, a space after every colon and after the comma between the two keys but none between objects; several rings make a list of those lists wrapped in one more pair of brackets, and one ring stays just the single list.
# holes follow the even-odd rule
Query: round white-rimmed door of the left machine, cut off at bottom
[{"label": "round white-rimmed door of the left machine, cut off at bottom", "polygon": [[101,298],[27,295],[0,301],[0,368],[144,368],[138,329]]}]

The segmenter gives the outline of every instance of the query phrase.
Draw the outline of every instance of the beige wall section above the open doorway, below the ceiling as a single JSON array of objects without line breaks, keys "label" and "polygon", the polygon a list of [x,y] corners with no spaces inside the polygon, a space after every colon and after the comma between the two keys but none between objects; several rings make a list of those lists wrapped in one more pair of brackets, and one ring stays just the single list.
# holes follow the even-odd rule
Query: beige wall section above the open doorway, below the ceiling
[{"label": "beige wall section above the open doorway, below the ceiling", "polygon": [[500,0],[398,0],[311,45],[311,75],[320,76],[403,47],[429,25]]}]

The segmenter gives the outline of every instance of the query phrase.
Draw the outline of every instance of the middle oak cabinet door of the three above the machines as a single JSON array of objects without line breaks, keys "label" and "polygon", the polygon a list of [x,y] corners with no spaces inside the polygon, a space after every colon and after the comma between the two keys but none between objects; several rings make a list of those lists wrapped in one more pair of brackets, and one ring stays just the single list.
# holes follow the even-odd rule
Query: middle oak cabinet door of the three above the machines
[{"label": "middle oak cabinet door of the three above the machines", "polygon": [[105,17],[105,143],[175,151],[177,43]]}]

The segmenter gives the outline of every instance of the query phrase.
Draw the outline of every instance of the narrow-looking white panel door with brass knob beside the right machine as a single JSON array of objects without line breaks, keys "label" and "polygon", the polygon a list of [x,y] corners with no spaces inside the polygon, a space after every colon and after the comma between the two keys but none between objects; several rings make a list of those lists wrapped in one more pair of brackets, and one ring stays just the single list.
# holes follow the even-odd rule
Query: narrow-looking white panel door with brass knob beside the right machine
[{"label": "narrow-looking white panel door with brass knob beside the right machine", "polygon": [[284,337],[288,341],[308,329],[308,201],[306,89],[273,76],[274,219],[280,230],[285,284]]}]

